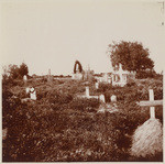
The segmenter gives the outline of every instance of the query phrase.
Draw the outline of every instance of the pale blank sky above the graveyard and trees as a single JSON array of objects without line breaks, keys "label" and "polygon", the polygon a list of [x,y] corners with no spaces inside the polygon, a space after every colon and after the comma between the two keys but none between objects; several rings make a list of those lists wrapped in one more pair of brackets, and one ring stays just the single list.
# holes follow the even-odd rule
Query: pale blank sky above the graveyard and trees
[{"label": "pale blank sky above the graveyard and trees", "polygon": [[141,42],[155,70],[164,68],[162,0],[2,0],[1,65],[24,62],[29,74],[72,75],[75,61],[95,73],[112,70],[112,41]]}]

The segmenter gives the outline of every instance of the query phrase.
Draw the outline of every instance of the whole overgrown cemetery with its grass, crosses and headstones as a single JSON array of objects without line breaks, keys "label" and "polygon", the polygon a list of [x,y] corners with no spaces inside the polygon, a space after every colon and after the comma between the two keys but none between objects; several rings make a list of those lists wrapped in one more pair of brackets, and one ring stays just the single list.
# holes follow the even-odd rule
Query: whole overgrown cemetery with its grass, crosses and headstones
[{"label": "whole overgrown cemetery with its grass, crosses and headstones", "polygon": [[2,84],[3,161],[161,162],[163,77],[130,80],[120,66],[105,83],[79,65],[67,80]]}]

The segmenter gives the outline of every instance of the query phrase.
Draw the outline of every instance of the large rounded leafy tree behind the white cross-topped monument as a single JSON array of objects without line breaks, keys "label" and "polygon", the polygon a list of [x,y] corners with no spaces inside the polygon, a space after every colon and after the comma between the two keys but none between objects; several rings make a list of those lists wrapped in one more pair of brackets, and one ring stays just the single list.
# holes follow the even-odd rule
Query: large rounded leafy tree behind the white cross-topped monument
[{"label": "large rounded leafy tree behind the white cross-topped monument", "polygon": [[142,43],[113,42],[113,44],[109,45],[108,52],[114,69],[119,64],[122,64],[124,70],[134,70],[136,73],[147,69],[152,70],[154,67],[154,62],[148,57],[148,48],[144,48]]}]

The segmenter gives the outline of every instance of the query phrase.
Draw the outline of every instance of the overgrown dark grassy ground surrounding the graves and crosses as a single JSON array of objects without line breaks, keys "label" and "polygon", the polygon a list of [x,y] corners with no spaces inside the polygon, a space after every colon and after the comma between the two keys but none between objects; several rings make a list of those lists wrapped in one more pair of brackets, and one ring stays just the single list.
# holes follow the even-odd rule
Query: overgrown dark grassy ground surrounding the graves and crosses
[{"label": "overgrown dark grassy ground surrounding the graves and crosses", "polygon": [[[148,118],[148,108],[136,101],[148,100],[148,88],[155,99],[163,99],[162,79],[145,79],[112,87],[100,84],[91,95],[103,94],[107,103],[117,95],[118,111],[99,113],[97,99],[85,95],[86,81],[31,79],[3,84],[2,125],[8,129],[3,140],[3,162],[121,162],[162,161],[162,153],[138,158],[130,155],[132,134]],[[37,100],[21,102],[28,97],[25,87],[36,88]],[[14,97],[13,97],[14,96]],[[156,107],[156,118],[163,123],[163,108]]]}]

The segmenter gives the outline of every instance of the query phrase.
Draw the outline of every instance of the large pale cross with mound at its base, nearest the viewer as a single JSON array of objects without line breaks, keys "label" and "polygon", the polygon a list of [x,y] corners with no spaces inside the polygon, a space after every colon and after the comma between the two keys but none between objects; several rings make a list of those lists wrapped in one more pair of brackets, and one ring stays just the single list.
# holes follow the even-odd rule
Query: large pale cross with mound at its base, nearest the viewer
[{"label": "large pale cross with mound at its base, nearest the viewer", "polygon": [[138,127],[132,136],[131,155],[136,157],[154,156],[163,152],[163,125],[155,118],[155,106],[163,101],[154,100],[153,89],[148,90],[150,101],[141,101],[140,106],[150,107],[150,119]]}]

